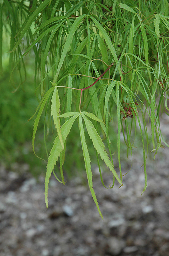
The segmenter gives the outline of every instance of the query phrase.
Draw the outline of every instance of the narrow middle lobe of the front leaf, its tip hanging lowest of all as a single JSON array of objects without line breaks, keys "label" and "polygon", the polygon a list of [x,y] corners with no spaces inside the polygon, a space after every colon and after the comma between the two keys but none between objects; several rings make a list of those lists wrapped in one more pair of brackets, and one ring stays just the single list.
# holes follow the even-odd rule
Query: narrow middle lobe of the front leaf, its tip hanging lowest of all
[{"label": "narrow middle lobe of the front leaf, its tip hanging lowest of all", "polygon": [[86,145],[86,140],[85,140],[85,134],[84,134],[81,115],[79,116],[79,129],[80,129],[80,135],[81,135],[81,146],[82,146],[82,150],[83,150],[83,157],[84,157],[85,168],[86,168],[87,179],[88,179],[88,186],[89,186],[90,192],[92,194],[93,200],[96,204],[97,210],[98,210],[100,216],[103,219],[102,213],[101,213],[100,208],[99,208],[99,204],[97,202],[95,191],[93,189],[92,171],[91,171],[91,165],[90,165],[91,161],[90,161],[90,157],[89,157],[89,153],[88,153],[88,147]]}]

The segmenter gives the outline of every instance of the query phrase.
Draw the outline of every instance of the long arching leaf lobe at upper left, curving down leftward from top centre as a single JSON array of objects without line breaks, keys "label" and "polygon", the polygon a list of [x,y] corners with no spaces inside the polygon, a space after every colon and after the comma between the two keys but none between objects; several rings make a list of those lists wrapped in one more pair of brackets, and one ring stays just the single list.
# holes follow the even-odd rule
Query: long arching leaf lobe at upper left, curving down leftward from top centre
[{"label": "long arching leaf lobe at upper left, curving down leftward from top centre", "polygon": [[65,42],[65,46],[64,46],[63,52],[62,52],[61,57],[60,57],[60,62],[59,62],[59,65],[58,65],[58,69],[57,69],[56,74],[55,74],[54,79],[53,79],[53,83],[55,83],[57,81],[57,78],[58,78],[58,75],[59,75],[59,72],[60,72],[60,68],[62,67],[63,61],[64,61],[64,59],[66,57],[66,54],[67,54],[67,52],[69,50],[69,47],[70,47],[70,44],[72,42],[74,33],[77,30],[77,28],[78,28],[79,24],[81,23],[81,21],[84,19],[84,17],[86,17],[86,14],[83,14],[80,17],[78,17],[74,21],[72,27],[70,28],[69,34],[68,34],[66,42]]}]

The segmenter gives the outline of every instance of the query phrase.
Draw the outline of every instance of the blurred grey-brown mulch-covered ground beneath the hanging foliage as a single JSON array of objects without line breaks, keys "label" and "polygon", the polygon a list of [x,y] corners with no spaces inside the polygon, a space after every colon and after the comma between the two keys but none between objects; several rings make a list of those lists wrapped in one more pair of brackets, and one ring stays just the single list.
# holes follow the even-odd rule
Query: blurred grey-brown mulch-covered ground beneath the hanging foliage
[{"label": "blurred grey-brown mulch-covered ground beneath the hanging foliage", "polygon": [[[163,132],[169,141],[168,119]],[[144,188],[142,157],[133,155],[133,167],[124,186],[102,186],[93,167],[94,189],[104,220],[88,186],[78,177],[60,184],[52,176],[49,207],[44,200],[44,177],[29,173],[29,165],[15,164],[22,175],[0,167],[1,256],[169,256],[169,148],[147,159],[148,187]],[[122,163],[128,169],[129,160]],[[103,173],[104,183],[112,182]]]}]

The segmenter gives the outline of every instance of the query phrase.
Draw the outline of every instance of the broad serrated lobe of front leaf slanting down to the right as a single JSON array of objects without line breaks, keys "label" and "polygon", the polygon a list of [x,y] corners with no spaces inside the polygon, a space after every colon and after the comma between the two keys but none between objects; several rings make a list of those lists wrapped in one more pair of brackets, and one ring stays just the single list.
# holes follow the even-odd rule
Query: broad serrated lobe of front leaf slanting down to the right
[{"label": "broad serrated lobe of front leaf slanting down to the right", "polygon": [[85,125],[89,134],[90,139],[93,142],[93,145],[95,147],[95,149],[97,150],[98,154],[101,156],[102,160],[104,160],[105,164],[107,165],[107,167],[109,167],[110,171],[113,173],[113,175],[115,176],[116,180],[120,183],[121,186],[123,186],[122,181],[119,179],[112,163],[110,162],[110,159],[106,153],[105,150],[105,146],[102,142],[102,139],[100,138],[100,136],[98,135],[94,125],[92,124],[92,122],[88,119],[88,117],[86,117],[85,115],[81,114],[84,121],[85,121]]}]

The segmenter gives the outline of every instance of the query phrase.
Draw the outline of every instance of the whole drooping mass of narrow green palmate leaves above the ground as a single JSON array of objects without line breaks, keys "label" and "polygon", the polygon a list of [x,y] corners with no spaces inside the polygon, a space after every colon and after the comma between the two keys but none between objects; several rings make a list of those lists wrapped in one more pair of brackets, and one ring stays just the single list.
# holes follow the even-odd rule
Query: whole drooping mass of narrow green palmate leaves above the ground
[{"label": "whole drooping mass of narrow green palmate leaves above the ground", "polygon": [[[151,123],[152,151],[156,154],[161,147],[160,113],[164,110],[168,114],[169,111],[168,1],[1,0],[0,3],[0,29],[2,31],[4,24],[3,32],[11,33],[11,74],[18,68],[23,80],[26,75],[25,56],[29,54],[35,59],[34,84],[39,107],[35,112],[33,150],[43,111],[45,117],[50,113],[58,133],[48,157],[46,205],[49,179],[59,157],[61,180],[54,175],[65,183],[62,165],[67,136],[74,122],[80,130],[89,188],[101,216],[93,190],[86,133],[96,149],[97,158],[99,155],[123,185],[122,176],[126,170],[122,173],[121,134],[132,155],[131,134],[139,127],[144,191],[149,144],[146,122]],[[0,68],[2,71],[2,36]],[[94,84],[95,78],[106,68],[108,72]],[[89,88],[82,90],[86,87]],[[49,117],[46,122],[49,125]],[[119,175],[113,167],[109,139],[112,124],[117,127]]]}]

